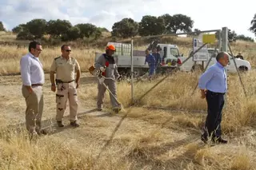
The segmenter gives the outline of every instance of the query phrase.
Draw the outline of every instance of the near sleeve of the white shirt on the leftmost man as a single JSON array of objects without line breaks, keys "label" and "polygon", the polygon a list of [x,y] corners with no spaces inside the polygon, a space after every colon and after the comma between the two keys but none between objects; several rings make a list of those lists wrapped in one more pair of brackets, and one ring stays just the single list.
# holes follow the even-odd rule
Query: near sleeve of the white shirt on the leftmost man
[{"label": "near sleeve of the white shirt on the leftmost man", "polygon": [[22,76],[22,84],[23,85],[31,85],[30,79],[30,59],[28,57],[22,57],[20,61],[21,67],[21,76]]}]

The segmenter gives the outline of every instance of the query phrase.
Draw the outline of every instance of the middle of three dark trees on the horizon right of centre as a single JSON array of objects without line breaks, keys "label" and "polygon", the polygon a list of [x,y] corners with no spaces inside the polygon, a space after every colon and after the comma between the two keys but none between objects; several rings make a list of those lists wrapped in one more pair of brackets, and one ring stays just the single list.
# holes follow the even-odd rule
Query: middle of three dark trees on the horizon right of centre
[{"label": "middle of three dark trees on the horizon right of centre", "polygon": [[165,22],[161,17],[146,15],[138,23],[138,34],[141,36],[163,34],[165,30]]}]

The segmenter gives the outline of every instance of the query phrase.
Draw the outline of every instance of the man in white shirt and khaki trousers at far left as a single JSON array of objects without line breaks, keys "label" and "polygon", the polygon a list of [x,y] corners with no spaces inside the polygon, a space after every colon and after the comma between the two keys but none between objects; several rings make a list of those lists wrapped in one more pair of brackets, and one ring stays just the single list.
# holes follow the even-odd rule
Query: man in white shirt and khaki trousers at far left
[{"label": "man in white shirt and khaki trousers at far left", "polygon": [[29,53],[20,61],[22,95],[26,99],[26,129],[30,135],[45,134],[41,129],[42,85],[45,82],[42,63],[38,58],[41,52],[42,45],[39,42],[30,42]]}]

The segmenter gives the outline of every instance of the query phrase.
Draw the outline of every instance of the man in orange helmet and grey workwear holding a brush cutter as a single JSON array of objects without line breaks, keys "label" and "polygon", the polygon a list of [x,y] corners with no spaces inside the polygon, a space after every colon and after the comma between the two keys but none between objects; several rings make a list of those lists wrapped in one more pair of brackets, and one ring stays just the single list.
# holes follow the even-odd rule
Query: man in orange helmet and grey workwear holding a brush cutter
[{"label": "man in orange helmet and grey workwear holding a brush cutter", "polygon": [[[118,80],[120,77],[118,73],[118,67],[115,64],[114,57],[112,56],[115,52],[114,45],[106,46],[106,53],[102,53],[98,60],[95,62],[94,67],[102,72],[102,76],[106,77],[104,80],[105,85],[110,89],[110,92],[113,93],[113,96],[110,94],[110,102],[114,112],[118,113],[121,110],[121,105],[116,100],[116,83],[114,80]],[[97,108],[98,111],[102,110],[104,94],[106,92],[106,87],[98,81],[98,98],[97,98]]]}]

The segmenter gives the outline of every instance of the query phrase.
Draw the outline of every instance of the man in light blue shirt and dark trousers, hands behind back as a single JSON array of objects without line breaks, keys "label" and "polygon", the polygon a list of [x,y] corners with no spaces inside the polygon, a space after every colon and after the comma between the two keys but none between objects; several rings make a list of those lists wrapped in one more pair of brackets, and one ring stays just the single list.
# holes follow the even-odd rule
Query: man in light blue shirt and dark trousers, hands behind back
[{"label": "man in light blue shirt and dark trousers, hands behind back", "polygon": [[207,69],[198,81],[201,97],[206,98],[208,107],[206,125],[201,139],[206,143],[208,137],[212,136],[211,140],[214,142],[226,144],[227,140],[221,137],[221,121],[224,94],[227,89],[224,67],[228,65],[229,55],[226,52],[220,52],[216,60],[217,63]]}]

